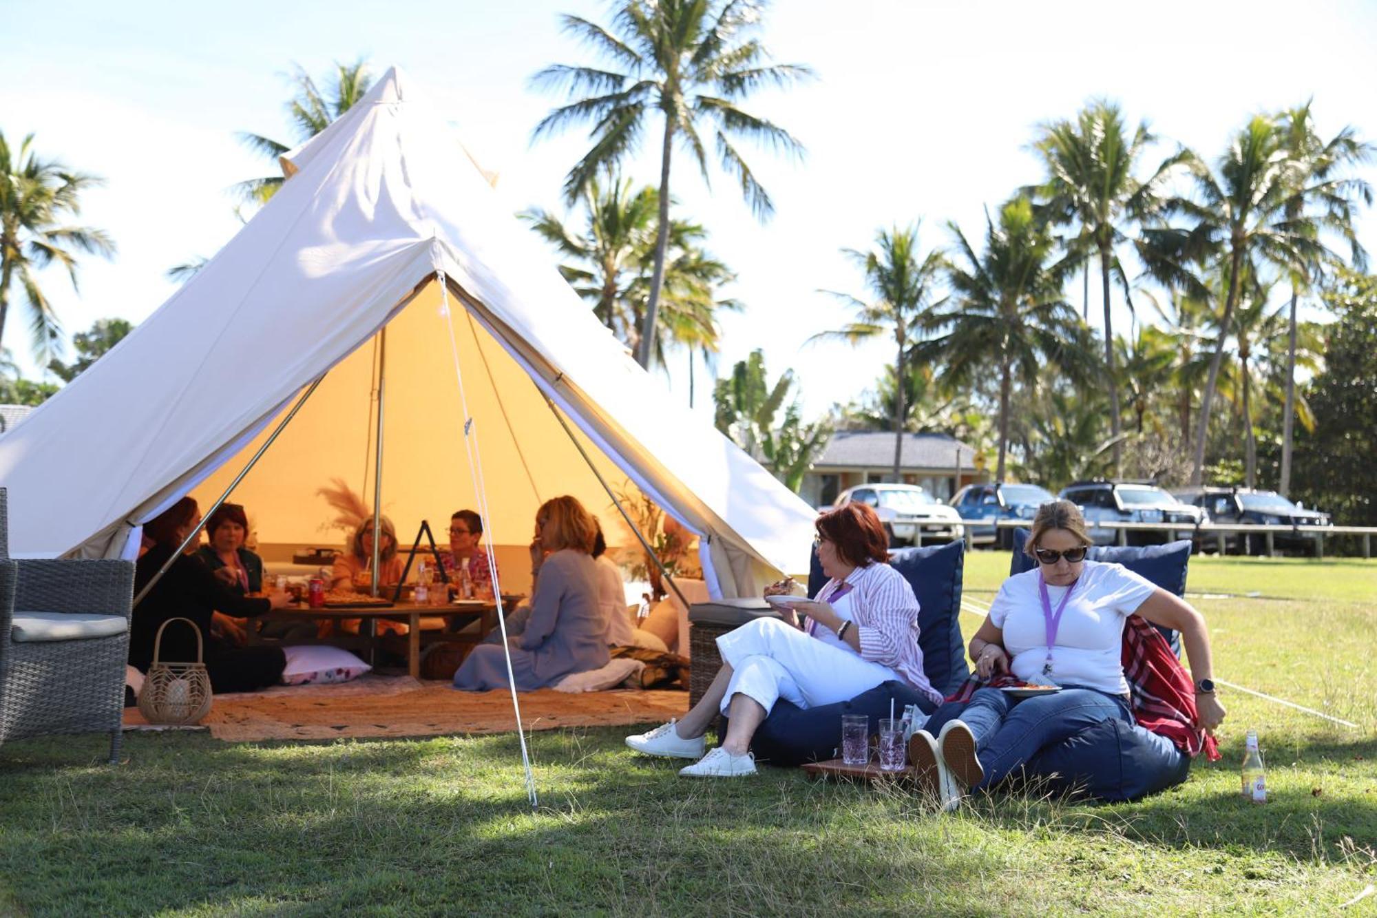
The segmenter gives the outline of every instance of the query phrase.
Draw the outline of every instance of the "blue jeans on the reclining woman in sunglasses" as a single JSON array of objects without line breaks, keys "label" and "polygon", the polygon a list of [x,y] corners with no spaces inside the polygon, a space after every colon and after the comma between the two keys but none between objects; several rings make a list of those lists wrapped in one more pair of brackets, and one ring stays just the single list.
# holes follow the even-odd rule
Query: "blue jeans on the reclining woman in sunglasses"
[{"label": "blue jeans on the reclining woman in sunglasses", "polygon": [[1064,686],[1056,695],[1016,699],[1000,689],[978,689],[971,702],[943,704],[928,722],[936,733],[960,718],[975,735],[975,748],[985,768],[979,790],[994,787],[1045,746],[1080,733],[1100,721],[1133,724],[1128,700],[1096,689]]}]

